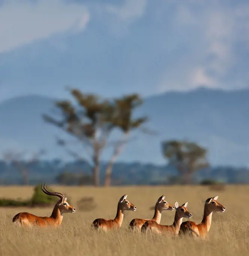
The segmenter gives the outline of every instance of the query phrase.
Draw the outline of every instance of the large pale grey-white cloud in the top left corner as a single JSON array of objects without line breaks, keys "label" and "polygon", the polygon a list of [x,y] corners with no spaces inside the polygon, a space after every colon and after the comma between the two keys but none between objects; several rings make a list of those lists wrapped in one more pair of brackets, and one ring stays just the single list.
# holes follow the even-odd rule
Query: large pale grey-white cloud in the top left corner
[{"label": "large pale grey-white cloud in the top left corner", "polygon": [[0,6],[0,53],[53,34],[82,31],[86,7],[62,0],[5,0]]}]

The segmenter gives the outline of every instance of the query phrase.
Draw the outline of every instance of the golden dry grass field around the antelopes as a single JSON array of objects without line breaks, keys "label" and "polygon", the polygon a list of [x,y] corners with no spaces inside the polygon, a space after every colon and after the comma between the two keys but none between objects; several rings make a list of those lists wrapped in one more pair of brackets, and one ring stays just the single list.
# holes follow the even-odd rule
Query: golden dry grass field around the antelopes
[{"label": "golden dry grass field around the antelopes", "polygon": [[[249,252],[249,186],[226,186],[224,191],[210,191],[201,186],[162,187],[61,187],[50,186],[58,192],[66,193],[76,208],[74,214],[64,215],[62,226],[57,229],[20,228],[12,223],[18,212],[30,212],[39,216],[50,216],[52,207],[0,208],[0,255],[202,255],[229,256],[247,255]],[[0,197],[28,198],[33,187],[2,186]],[[127,194],[127,200],[135,204],[136,212],[126,212],[123,227],[108,233],[96,233],[91,223],[96,218],[114,218],[119,198]],[[206,241],[190,237],[172,238],[166,235],[129,233],[128,223],[133,218],[152,218],[154,206],[161,195],[171,204],[188,201],[187,209],[193,214],[191,220],[200,222],[204,201],[219,195],[218,202],[226,207],[224,213],[214,213],[209,238]],[[90,212],[77,210],[77,201],[84,196],[92,196],[97,207]],[[172,224],[174,212],[162,213],[161,224]],[[184,219],[183,221],[185,221]]]}]

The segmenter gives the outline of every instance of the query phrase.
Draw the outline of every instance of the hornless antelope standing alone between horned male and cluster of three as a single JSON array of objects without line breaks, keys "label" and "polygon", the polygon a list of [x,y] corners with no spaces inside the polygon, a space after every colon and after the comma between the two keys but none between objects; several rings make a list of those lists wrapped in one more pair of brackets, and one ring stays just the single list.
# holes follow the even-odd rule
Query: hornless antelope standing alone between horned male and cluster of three
[{"label": "hornless antelope standing alone between horned male and cluster of three", "polygon": [[124,211],[132,210],[135,212],[136,206],[126,200],[127,195],[123,195],[118,201],[117,214],[114,219],[95,219],[92,223],[92,227],[96,230],[110,230],[115,227],[120,228],[123,222]]}]

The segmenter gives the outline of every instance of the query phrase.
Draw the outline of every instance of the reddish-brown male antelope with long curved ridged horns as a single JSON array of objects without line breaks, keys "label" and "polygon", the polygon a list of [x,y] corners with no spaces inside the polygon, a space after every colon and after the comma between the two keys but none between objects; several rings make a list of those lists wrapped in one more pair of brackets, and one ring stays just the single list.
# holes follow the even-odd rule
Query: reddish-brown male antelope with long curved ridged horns
[{"label": "reddish-brown male antelope with long curved ridged horns", "polygon": [[[42,185],[41,185],[42,187]],[[44,189],[42,191],[47,195],[55,195],[60,198],[60,200],[55,204],[54,209],[50,217],[39,217],[28,212],[20,212],[14,216],[12,222],[18,224],[18,226],[60,226],[62,223],[63,213],[75,212],[74,206],[71,206],[66,200],[65,196],[58,192],[50,192],[46,189],[44,183]]]}]

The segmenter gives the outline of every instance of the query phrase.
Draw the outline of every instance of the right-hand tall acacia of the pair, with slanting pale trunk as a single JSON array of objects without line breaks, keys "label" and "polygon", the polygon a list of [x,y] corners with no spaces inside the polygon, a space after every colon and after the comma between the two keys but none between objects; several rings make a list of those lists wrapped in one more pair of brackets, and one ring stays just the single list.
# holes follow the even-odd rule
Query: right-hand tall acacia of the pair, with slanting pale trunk
[{"label": "right-hand tall acacia of the pair, with slanting pale trunk", "polygon": [[114,113],[111,117],[111,123],[122,131],[123,138],[114,145],[113,155],[105,171],[105,186],[110,186],[111,184],[113,164],[121,151],[123,151],[130,132],[140,128],[147,121],[147,117],[133,118],[134,110],[141,105],[142,99],[138,94],[130,94],[114,99]]}]

